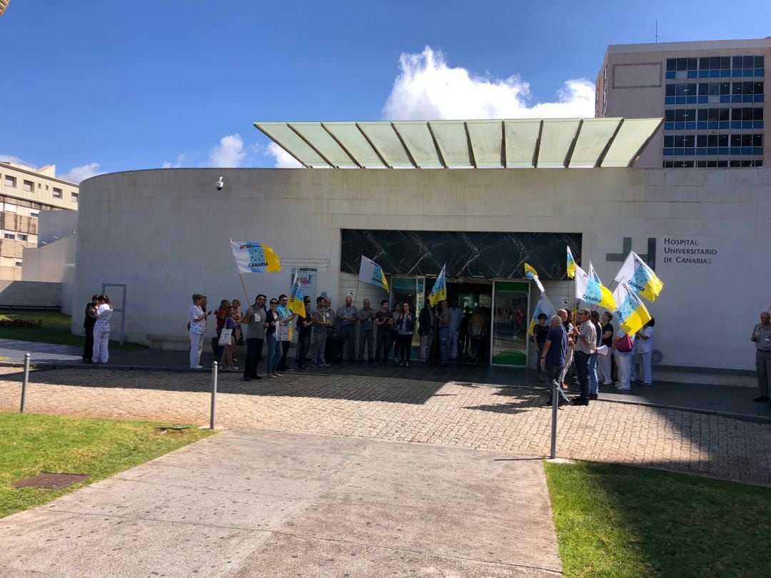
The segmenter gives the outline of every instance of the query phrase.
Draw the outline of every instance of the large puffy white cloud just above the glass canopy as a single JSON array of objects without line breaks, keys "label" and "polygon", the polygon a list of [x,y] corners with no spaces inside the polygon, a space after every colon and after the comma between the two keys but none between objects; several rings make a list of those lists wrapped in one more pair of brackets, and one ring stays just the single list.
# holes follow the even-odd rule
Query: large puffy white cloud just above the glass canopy
[{"label": "large puffy white cloud just above the glass canopy", "polygon": [[530,103],[530,84],[519,76],[507,79],[472,76],[450,68],[442,52],[426,46],[420,54],[399,57],[396,77],[383,114],[392,120],[516,119],[594,116],[594,83],[571,79],[556,102]]}]

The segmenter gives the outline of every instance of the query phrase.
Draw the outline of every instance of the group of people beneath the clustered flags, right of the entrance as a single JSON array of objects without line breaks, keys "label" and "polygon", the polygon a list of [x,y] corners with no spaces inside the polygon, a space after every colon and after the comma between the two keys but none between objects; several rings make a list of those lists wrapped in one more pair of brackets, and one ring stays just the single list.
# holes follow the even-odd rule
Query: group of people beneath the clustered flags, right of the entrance
[{"label": "group of people beneath the clustered flags, right of the entrance", "polygon": [[[613,314],[605,311],[580,309],[573,324],[573,314],[560,309],[548,318],[538,316],[531,340],[538,350],[538,378],[548,381],[551,391],[559,395],[558,405],[572,402],[574,405],[589,405],[599,397],[599,385],[615,385],[618,391],[629,391],[631,381],[652,385],[651,355],[655,319],[648,321],[634,335],[627,335],[619,329],[614,331]],[[580,394],[568,400],[565,391],[568,371],[575,368]],[[615,370],[615,371],[614,371]],[[613,375],[618,377],[614,383]],[[547,404],[551,404],[550,399]]]}]

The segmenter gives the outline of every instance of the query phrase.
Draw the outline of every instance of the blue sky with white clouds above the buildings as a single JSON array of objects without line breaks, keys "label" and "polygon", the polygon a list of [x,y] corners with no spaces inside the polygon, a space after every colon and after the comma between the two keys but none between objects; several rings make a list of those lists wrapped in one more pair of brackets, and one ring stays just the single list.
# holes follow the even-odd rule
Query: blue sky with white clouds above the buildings
[{"label": "blue sky with white clouds above the buildings", "polygon": [[[255,120],[592,116],[608,44],[763,38],[771,3],[12,0],[0,160],[288,165]],[[588,82],[581,82],[581,80]]]}]

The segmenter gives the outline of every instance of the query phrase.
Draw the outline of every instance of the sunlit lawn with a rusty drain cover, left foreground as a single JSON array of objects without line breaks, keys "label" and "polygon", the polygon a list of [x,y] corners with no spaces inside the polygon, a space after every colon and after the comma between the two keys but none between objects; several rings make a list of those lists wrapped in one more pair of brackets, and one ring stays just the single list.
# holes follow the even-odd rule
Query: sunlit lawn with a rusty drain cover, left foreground
[{"label": "sunlit lawn with a rusty drain cover, left foreground", "polygon": [[[0,517],[49,502],[89,483],[148,462],[212,432],[163,424],[61,415],[0,413]],[[61,490],[10,484],[41,472],[89,474]]]}]

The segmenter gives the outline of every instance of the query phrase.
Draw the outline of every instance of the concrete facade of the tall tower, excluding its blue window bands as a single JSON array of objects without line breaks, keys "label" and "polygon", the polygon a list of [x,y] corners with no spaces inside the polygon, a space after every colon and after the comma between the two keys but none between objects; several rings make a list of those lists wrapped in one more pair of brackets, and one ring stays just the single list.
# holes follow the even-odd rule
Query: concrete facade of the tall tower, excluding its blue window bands
[{"label": "concrete facade of the tall tower, excluding its blue window bands", "polygon": [[[685,74],[675,75],[674,79],[667,78],[667,59],[703,59],[709,57],[733,57],[745,55],[760,55],[765,57],[765,76],[763,77],[696,77]],[[722,71],[719,71],[722,72]],[[731,71],[729,71],[731,72]],[[766,95],[765,102],[753,102],[741,104],[730,102],[699,103],[683,102],[665,106],[665,89],[667,84],[699,82],[732,82],[756,79],[763,82],[771,73],[771,39],[749,40],[720,40],[705,42],[659,42],[654,44],[626,44],[610,45],[605,52],[600,72],[595,82],[595,110],[597,117],[625,118],[636,117],[663,117],[665,109],[704,109],[704,108],[735,108],[735,107],[761,107],[764,112],[765,122],[769,122],[771,113],[771,98]],[[672,75],[671,75],[672,76]],[[696,96],[696,95],[692,95]],[[695,119],[692,119],[695,120]],[[677,129],[666,131],[662,127],[656,136],[648,144],[636,163],[638,167],[661,168],[664,160],[702,160],[718,158],[717,156],[668,156],[662,155],[664,148],[664,136],[670,134],[712,135],[719,133],[760,133],[766,136],[763,129]],[[764,143],[765,144],[765,143]],[[762,157],[752,156],[722,156],[722,160],[749,160],[760,159],[763,166],[771,163],[771,149],[765,146]]]}]

